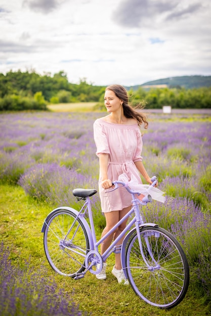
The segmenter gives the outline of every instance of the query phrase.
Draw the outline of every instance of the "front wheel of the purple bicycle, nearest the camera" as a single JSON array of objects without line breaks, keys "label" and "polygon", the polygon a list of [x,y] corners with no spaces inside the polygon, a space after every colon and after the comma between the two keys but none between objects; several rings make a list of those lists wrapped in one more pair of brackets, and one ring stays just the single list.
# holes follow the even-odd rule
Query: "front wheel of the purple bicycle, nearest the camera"
[{"label": "front wheel of the purple bicycle, nearest the camera", "polygon": [[129,282],[145,302],[160,308],[178,305],[188,290],[189,267],[177,239],[159,227],[140,229],[126,248],[125,264]]}]

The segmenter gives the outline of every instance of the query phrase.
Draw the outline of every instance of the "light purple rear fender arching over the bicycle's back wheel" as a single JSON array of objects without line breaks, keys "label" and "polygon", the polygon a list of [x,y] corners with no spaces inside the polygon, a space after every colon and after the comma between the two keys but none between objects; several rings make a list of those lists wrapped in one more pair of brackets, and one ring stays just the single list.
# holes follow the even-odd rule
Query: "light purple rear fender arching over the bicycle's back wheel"
[{"label": "light purple rear fender arching over the bicycle's back wheel", "polygon": [[[76,216],[79,214],[79,212],[72,208],[72,207],[69,207],[69,206],[60,206],[60,207],[57,207],[55,208],[54,210],[52,210],[51,213],[49,213],[49,215],[47,216],[47,218],[45,219],[44,221],[44,224],[43,224],[43,227],[41,229],[41,233],[44,233],[45,230],[46,230],[46,227],[47,227],[47,224],[50,220],[50,218],[52,217],[53,214],[55,214],[58,210],[60,209],[64,209],[64,210],[70,210],[72,213],[74,213]],[[87,231],[87,235],[88,235],[88,239],[89,239],[89,242],[90,242],[90,250],[94,250],[94,243],[93,243],[93,240],[91,238],[92,236],[92,233],[91,233],[91,229],[90,229],[90,226],[89,224],[87,223],[87,221],[85,220],[85,218],[83,216],[79,216],[79,220],[81,221],[81,223],[83,224],[83,226],[85,227],[86,231]]]}]

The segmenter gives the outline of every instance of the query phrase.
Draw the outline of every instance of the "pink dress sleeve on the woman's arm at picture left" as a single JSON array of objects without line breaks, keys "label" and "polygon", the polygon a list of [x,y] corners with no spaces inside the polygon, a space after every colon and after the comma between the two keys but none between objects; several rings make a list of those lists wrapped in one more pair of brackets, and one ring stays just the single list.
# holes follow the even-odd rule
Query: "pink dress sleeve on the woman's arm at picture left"
[{"label": "pink dress sleeve on the woman's arm at picture left", "polygon": [[95,121],[93,128],[94,140],[97,147],[96,155],[99,157],[101,153],[110,154],[107,136],[99,119]]}]

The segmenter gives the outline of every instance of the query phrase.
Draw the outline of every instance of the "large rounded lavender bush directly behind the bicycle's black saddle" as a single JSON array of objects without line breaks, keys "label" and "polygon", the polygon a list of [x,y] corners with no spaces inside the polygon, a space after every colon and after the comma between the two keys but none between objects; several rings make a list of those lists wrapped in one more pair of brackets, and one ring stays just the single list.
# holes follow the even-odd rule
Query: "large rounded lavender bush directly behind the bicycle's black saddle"
[{"label": "large rounded lavender bush directly behind the bicycle's black saddle", "polygon": [[29,168],[18,183],[31,197],[61,206],[74,204],[72,190],[76,187],[90,188],[92,182],[90,176],[82,176],[74,170],[52,163]]}]

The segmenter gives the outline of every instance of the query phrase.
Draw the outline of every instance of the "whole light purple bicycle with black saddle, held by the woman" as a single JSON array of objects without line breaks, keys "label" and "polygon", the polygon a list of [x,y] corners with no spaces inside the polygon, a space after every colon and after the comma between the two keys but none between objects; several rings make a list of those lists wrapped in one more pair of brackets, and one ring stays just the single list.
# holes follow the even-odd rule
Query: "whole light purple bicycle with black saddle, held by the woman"
[{"label": "whole light purple bicycle with black saddle, held by the woman", "polygon": [[[154,186],[156,177],[152,181]],[[140,206],[152,201],[150,195],[140,200],[140,192],[131,190],[124,182],[114,181],[113,184],[114,189],[124,187],[131,193],[132,208],[99,241],[96,239],[90,198],[97,193],[95,189],[73,190],[78,200],[85,200],[79,212],[62,206],[47,216],[41,231],[50,266],[61,275],[80,279],[88,271],[98,274],[103,261],[112,252],[119,252],[125,277],[141,299],[159,308],[175,307],[183,300],[189,286],[189,266],[181,245],[170,232],[143,219]],[[132,219],[126,228],[101,255],[99,245],[130,216]],[[126,232],[122,245],[118,245]]]}]

